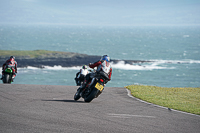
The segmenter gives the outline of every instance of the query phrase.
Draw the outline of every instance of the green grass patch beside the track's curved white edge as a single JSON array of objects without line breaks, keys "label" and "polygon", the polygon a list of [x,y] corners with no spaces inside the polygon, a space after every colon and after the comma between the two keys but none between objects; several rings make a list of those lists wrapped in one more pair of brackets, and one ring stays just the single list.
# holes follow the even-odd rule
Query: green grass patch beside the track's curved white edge
[{"label": "green grass patch beside the track's curved white edge", "polygon": [[145,85],[126,86],[144,101],[167,108],[200,115],[200,88],[166,88]]}]

